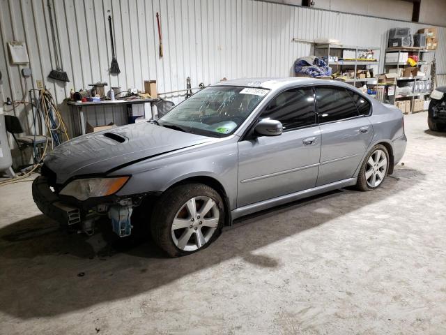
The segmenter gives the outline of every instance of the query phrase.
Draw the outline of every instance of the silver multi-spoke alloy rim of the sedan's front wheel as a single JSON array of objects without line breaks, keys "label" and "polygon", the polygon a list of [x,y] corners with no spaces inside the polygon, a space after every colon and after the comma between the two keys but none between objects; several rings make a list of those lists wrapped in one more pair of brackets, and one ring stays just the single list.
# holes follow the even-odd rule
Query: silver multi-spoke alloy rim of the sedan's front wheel
[{"label": "silver multi-spoke alloy rim of the sedan's front wheel", "polygon": [[201,248],[213,236],[219,219],[220,211],[212,198],[202,196],[187,200],[171,225],[175,246],[183,251]]}]

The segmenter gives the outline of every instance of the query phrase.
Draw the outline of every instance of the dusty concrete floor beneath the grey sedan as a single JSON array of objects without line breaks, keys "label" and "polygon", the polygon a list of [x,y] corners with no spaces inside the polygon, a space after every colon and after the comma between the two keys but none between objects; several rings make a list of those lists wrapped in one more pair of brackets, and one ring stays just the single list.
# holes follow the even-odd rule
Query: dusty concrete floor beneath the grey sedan
[{"label": "dusty concrete floor beneath the grey sedan", "polygon": [[0,333],[446,334],[446,137],[426,129],[406,116],[377,191],[250,216],[185,258],[59,232],[31,183],[1,187]]}]

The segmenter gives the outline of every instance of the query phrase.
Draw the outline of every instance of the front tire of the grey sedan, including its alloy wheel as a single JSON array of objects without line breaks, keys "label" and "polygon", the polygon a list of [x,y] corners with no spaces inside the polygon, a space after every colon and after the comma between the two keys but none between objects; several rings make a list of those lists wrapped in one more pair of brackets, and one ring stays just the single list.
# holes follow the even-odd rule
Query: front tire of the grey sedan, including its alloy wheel
[{"label": "front tire of the grey sedan, including its alloy wheel", "polygon": [[152,238],[171,257],[190,255],[215,241],[223,223],[224,202],[217,191],[203,184],[179,185],[157,201],[151,218]]}]

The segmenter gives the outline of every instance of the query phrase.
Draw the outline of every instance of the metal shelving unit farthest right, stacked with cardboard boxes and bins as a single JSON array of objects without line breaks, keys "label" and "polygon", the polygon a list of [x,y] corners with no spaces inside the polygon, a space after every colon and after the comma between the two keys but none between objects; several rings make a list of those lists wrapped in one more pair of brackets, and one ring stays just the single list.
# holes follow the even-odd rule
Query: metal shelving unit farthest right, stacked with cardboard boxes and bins
[{"label": "metal shelving unit farthest right, stacked with cardboard boxes and bins", "polygon": [[[387,52],[398,52],[398,59],[400,59],[400,54],[401,52],[412,52],[412,53],[417,53],[418,56],[418,62],[415,65],[416,67],[424,65],[424,64],[429,64],[429,63],[424,63],[422,61],[420,61],[420,57],[422,52],[433,52],[433,57],[435,57],[435,52],[436,50],[431,50],[431,49],[422,49],[421,47],[390,47],[387,48],[385,50],[385,54],[387,54]],[[406,66],[409,66],[409,64],[407,64],[406,62],[395,62],[395,61],[390,61],[390,62],[385,62],[384,63],[384,68],[385,68],[385,73],[388,73],[387,70],[389,69],[389,67],[391,66],[397,66],[397,69],[399,68],[403,68]],[[398,70],[397,70],[398,73]],[[412,98],[411,99],[411,107],[410,107],[410,112],[413,113],[413,107],[414,107],[414,103],[413,101],[415,100],[415,96],[429,96],[430,92],[417,92],[417,93],[412,93],[412,94],[408,94],[406,96],[403,96],[401,94],[397,95],[397,86],[398,86],[398,82],[401,81],[408,81],[408,80],[413,80],[414,83],[417,81],[422,81],[422,80],[431,80],[431,75],[429,73],[429,75],[425,75],[424,77],[419,77],[419,76],[415,76],[415,77],[397,77],[397,80],[395,80],[394,82],[394,96],[393,99],[389,98],[389,102],[394,104],[395,103],[395,99],[400,99],[400,98]],[[415,85],[415,84],[414,84]],[[392,85],[391,85],[392,86]]]}]

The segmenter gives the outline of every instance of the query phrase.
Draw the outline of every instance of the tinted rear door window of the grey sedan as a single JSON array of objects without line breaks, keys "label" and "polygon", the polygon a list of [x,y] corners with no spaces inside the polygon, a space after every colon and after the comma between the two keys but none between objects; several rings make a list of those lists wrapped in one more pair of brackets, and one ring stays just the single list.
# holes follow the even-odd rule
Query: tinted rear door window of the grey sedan
[{"label": "tinted rear door window of the grey sedan", "polygon": [[357,117],[350,94],[343,87],[316,87],[319,122]]}]

